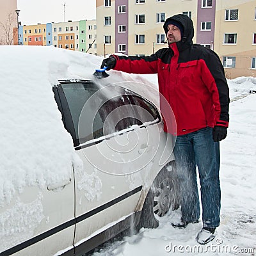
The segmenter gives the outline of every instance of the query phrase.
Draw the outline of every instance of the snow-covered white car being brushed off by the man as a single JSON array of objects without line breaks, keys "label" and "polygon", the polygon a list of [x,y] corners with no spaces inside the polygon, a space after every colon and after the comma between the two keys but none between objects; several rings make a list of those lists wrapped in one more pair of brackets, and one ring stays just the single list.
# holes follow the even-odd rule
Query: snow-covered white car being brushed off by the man
[{"label": "snow-covered white car being brushed off by the man", "polygon": [[[78,60],[94,58],[89,54],[17,48],[0,47],[5,57],[0,82],[6,88],[0,106],[15,106],[15,116],[12,108],[5,110],[12,113],[8,122],[15,118],[19,125],[19,134],[11,122],[0,128],[1,136],[7,132],[7,138],[15,136],[23,145],[15,156],[1,159],[0,255],[83,255],[129,228],[157,227],[159,218],[179,206],[174,140],[163,131],[158,106],[127,89],[132,81],[116,84],[75,75],[76,68],[83,69]],[[76,65],[68,73],[71,60]],[[46,84],[39,89],[36,83]],[[47,104],[41,104],[45,99]],[[22,129],[28,123],[38,128]],[[55,140],[60,134],[70,140]],[[8,141],[1,143],[1,151],[12,152]],[[58,159],[67,147],[72,157],[61,154]],[[19,162],[19,154],[26,154],[26,160]]]}]

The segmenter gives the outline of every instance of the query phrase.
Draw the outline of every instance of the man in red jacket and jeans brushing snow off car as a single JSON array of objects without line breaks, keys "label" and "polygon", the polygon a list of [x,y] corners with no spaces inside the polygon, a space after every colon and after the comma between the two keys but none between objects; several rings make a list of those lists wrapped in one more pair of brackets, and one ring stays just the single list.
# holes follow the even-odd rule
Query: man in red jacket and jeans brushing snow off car
[{"label": "man in red jacket and jeans brushing snow off car", "polygon": [[157,73],[159,92],[168,100],[177,122],[174,155],[182,189],[182,216],[179,223],[172,225],[186,228],[189,223],[198,222],[197,166],[204,227],[196,240],[206,244],[214,239],[220,225],[219,141],[227,136],[228,85],[217,54],[193,44],[193,22],[188,16],[168,18],[164,31],[168,48],[140,58],[111,55],[102,67],[137,74]]}]

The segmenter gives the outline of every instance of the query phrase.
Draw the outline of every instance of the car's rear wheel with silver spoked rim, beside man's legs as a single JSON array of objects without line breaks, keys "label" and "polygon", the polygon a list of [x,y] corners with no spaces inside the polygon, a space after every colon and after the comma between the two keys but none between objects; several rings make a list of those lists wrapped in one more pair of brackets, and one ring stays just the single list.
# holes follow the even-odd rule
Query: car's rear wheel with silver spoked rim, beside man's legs
[{"label": "car's rear wheel with silver spoked rim, beside man's legs", "polygon": [[171,210],[179,208],[175,188],[175,163],[172,161],[161,170],[145,199],[138,228],[156,228],[159,220]]}]

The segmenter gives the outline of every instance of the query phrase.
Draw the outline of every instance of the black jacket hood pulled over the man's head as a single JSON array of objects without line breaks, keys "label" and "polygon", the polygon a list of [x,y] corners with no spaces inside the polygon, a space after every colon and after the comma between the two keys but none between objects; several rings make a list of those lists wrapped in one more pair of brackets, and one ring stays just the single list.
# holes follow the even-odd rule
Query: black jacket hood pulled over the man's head
[{"label": "black jacket hood pulled over the man's head", "polygon": [[193,21],[184,14],[176,14],[168,18],[164,22],[164,32],[167,35],[167,24],[170,24],[170,21],[175,20],[183,26],[183,36],[180,42],[177,42],[178,49],[186,48],[186,45],[192,45],[192,38],[194,37],[194,26]]}]

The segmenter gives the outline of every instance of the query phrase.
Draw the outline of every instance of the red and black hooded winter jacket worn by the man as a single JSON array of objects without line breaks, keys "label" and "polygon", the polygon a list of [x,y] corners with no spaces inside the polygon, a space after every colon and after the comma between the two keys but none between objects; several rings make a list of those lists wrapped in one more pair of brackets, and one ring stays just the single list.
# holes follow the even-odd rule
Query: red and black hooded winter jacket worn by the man
[{"label": "red and black hooded winter jacket worn by the man", "polygon": [[[215,52],[193,44],[193,22],[186,15],[167,19],[165,31],[165,24],[170,19],[183,25],[182,41],[151,56],[113,55],[116,58],[114,69],[136,74],[157,73],[159,92],[172,107],[176,118],[177,135],[214,125],[228,127],[228,85],[220,58]],[[161,102],[160,106],[164,113]],[[166,113],[163,116],[168,120]],[[164,131],[168,131],[166,122]]]}]

